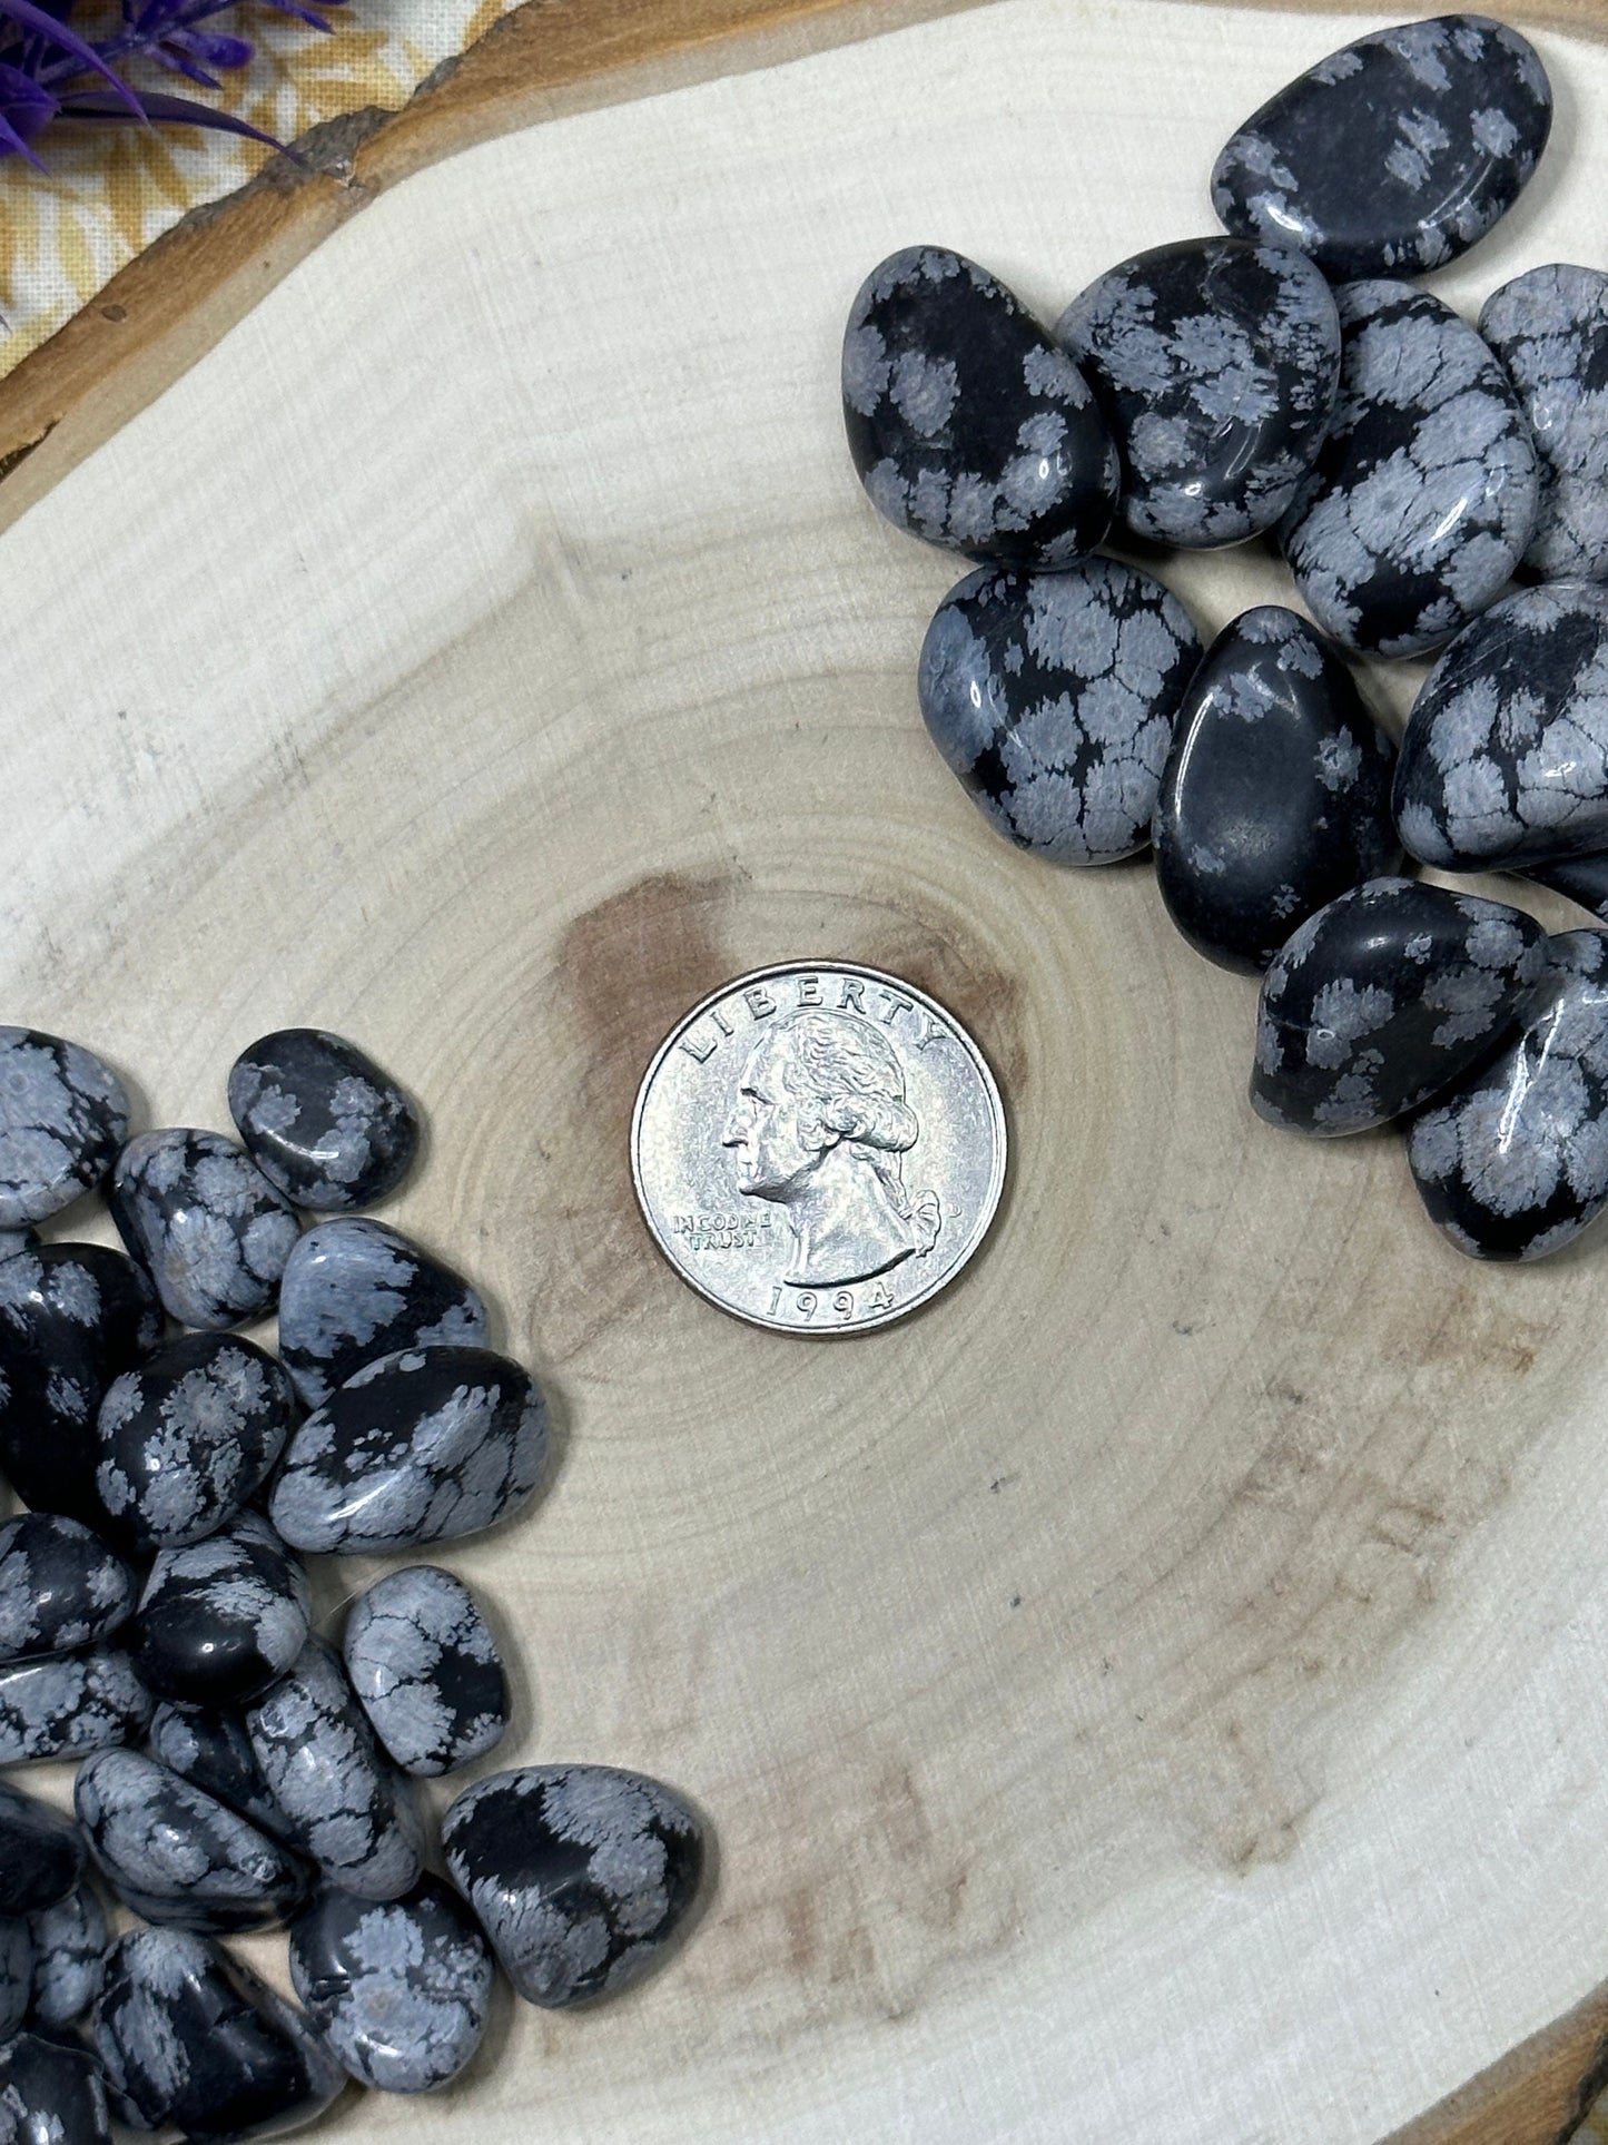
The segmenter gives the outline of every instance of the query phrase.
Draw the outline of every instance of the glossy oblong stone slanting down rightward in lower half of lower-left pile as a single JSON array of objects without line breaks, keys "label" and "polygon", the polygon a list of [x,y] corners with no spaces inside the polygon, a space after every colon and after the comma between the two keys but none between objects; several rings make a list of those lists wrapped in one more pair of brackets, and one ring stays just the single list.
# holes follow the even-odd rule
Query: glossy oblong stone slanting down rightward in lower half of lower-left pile
[{"label": "glossy oblong stone slanting down rightward in lower half of lower-left pile", "polygon": [[101,1875],[146,1922],[279,1928],[313,1885],[281,1840],[137,1750],[86,1759],[73,1808]]}]

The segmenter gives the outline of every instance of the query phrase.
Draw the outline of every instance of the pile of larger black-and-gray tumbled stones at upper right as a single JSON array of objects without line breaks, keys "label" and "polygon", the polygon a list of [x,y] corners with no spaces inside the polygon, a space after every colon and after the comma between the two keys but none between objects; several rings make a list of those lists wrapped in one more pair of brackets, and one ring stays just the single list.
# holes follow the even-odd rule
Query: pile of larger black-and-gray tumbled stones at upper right
[{"label": "pile of larger black-and-gray tumbled stones at upper right", "polygon": [[[1516,30],[1379,30],[1229,139],[1231,236],[1123,262],[1053,332],[915,247],[843,345],[873,502],[982,562],[920,656],[950,768],[1036,856],[1149,845],[1186,940],[1263,978],[1256,1111],[1411,1118],[1424,1205],[1484,1259],[1608,1203],[1608,933],[1402,867],[1608,918],[1608,275],[1533,268],[1477,330],[1404,277],[1512,208],[1550,120]],[[1149,573],[1093,556],[1113,530],[1274,541],[1319,624],[1267,603],[1203,650]],[[1430,650],[1396,753],[1346,654]]]}]

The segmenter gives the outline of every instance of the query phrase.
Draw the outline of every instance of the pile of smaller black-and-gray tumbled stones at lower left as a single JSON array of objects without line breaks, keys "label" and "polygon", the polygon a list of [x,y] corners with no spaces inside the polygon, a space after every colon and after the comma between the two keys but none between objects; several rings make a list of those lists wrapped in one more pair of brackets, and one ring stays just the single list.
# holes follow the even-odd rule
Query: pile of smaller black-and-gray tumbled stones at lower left
[{"label": "pile of smaller black-and-gray tumbled stones at lower left", "polygon": [[[302,1555],[510,1519],[547,1407],[463,1276],[352,1214],[414,1160],[394,1081],[283,1030],[229,1109],[242,1143],[129,1139],[99,1057],[0,1027],[0,1467],[30,1508],[0,1525],[0,1767],[81,1761],[71,1819],[0,1785],[0,2139],[279,2136],[347,2079],[446,2085],[495,1963],[540,2006],[620,1988],[699,1885],[682,1798],[607,1765],[476,1780],[431,1873],[414,1778],[502,1740],[497,1645],[433,1564],[328,1643]],[[126,1257],[39,1242],[103,1182]],[[274,1308],[277,1356],[234,1332]],[[285,1924],[300,2008],[217,1941]]]}]

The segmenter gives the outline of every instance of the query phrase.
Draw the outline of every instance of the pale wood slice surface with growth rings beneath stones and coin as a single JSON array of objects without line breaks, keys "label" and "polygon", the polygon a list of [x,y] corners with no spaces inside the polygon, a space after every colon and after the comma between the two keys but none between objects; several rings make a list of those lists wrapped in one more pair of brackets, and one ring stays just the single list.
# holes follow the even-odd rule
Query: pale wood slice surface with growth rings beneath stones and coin
[{"label": "pale wood slice surface with growth rings beneath stones and coin", "polygon": [[[1229,127],[1357,24],[1001,0],[487,142],[0,536],[6,1017],[152,1122],[219,1124],[287,1021],[420,1094],[388,1214],[564,1422],[545,1506],[446,1557],[534,1692],[504,1757],[645,1765],[720,1843],[658,1980],[510,2010],[332,2139],[1563,2115],[1608,1973],[1608,1246],[1460,1261],[1398,1141],[1250,1118],[1254,993],[1143,864],[986,832],[913,706],[954,562],[875,519],[836,408],[881,253],[1055,311],[1209,227]],[[1608,49],[1539,41],[1557,146],[1436,281],[1464,307],[1602,242]],[[1284,586],[1166,573],[1207,631]],[[830,1349],[682,1289],[626,1160],[669,1021],[804,950],[950,1004],[1014,1133],[969,1274]]]}]

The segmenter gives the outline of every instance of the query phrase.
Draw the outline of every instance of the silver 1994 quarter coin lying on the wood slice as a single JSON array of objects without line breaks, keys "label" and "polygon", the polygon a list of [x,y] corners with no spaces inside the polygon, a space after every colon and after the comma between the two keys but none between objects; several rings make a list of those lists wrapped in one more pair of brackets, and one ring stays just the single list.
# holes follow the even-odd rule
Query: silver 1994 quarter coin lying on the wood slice
[{"label": "silver 1994 quarter coin lying on the wood slice", "polygon": [[937,1296],[988,1233],[1006,1113],[937,1000],[847,961],[738,976],[647,1066],[630,1173],[675,1272],[723,1311],[851,1334]]}]

